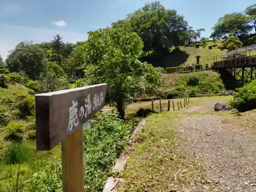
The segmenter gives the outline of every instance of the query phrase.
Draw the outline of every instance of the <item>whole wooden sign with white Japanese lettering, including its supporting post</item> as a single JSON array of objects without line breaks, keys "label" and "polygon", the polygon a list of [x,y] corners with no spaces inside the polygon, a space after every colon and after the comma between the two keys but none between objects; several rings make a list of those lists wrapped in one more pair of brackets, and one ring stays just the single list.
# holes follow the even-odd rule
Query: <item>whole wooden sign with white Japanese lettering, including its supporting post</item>
[{"label": "whole wooden sign with white Japanese lettering, including its supporting post", "polygon": [[36,148],[49,151],[61,142],[65,192],[83,189],[83,124],[104,106],[107,84],[37,94]]}]

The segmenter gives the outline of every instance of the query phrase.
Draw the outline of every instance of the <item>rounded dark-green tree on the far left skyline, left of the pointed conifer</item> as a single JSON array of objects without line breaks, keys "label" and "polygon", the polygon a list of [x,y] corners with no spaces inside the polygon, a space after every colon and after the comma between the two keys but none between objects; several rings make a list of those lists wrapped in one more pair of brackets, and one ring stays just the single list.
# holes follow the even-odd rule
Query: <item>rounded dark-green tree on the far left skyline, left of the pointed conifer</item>
[{"label": "rounded dark-green tree on the far left skyline, left of the pointed conifer", "polygon": [[36,80],[46,71],[45,50],[38,45],[20,42],[8,55],[6,65],[10,72],[24,72]]}]

